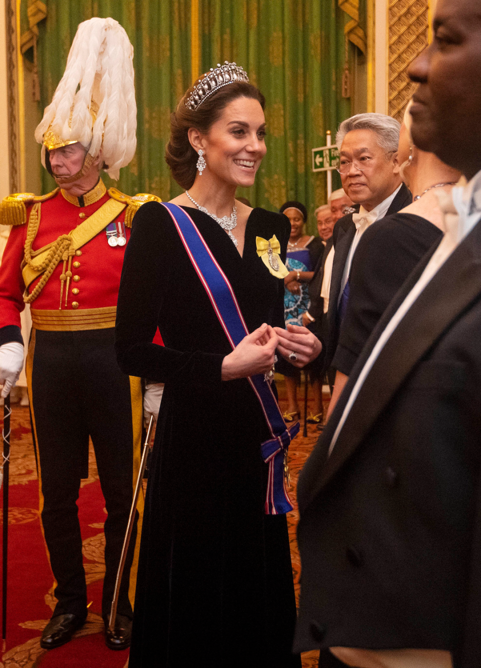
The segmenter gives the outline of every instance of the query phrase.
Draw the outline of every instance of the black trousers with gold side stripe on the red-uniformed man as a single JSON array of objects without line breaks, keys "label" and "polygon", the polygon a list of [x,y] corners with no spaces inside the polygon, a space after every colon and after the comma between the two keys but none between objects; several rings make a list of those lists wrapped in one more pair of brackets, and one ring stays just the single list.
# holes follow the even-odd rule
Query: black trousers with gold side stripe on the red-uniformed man
[{"label": "black trousers with gold side stripe on the red-uniformed man", "polygon": [[[108,513],[102,595],[102,615],[108,615],[132,504],[134,462],[138,467],[140,459],[140,379],[131,381],[118,368],[113,328],[73,332],[34,329],[27,377],[41,481],[41,519],[57,581],[58,603],[53,615],[85,617],[87,613],[77,499],[80,480],[86,476],[89,436]],[[132,389],[134,381],[138,381],[138,392]],[[129,580],[135,543],[136,528],[118,603],[118,613],[128,617],[132,617]]]}]

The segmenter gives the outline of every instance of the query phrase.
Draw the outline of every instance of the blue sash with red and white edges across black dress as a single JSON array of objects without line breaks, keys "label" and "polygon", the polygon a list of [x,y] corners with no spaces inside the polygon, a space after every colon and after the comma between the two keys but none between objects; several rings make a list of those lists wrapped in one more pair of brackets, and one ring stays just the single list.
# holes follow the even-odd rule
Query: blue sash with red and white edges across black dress
[{"label": "blue sash with red and white edges across black dress", "polygon": [[[170,213],[190,262],[205,288],[232,349],[234,349],[249,334],[249,330],[228,278],[220,269],[204,237],[200,234],[188,213],[177,204],[170,202],[162,202],[162,206],[165,206]],[[267,515],[289,512],[293,506],[286,488],[285,460],[289,444],[299,432],[299,422],[296,422],[291,428],[287,428],[271,384],[265,380],[264,375],[250,376],[247,380],[251,383],[255,395],[261,403],[272,437],[261,444],[261,454],[264,461],[269,464],[264,512]]]}]

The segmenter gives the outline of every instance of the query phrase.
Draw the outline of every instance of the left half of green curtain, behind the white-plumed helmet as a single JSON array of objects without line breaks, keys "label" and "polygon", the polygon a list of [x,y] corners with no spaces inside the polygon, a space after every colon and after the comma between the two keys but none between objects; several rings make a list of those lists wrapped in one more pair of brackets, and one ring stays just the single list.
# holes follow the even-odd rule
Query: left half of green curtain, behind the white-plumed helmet
[{"label": "left half of green curtain, behind the white-plumed helmet", "polygon": [[[190,86],[189,0],[47,0],[47,17],[39,24],[39,73],[42,109],[61,79],[71,42],[81,21],[112,17],[134,45],[138,105],[137,152],[120,180],[102,178],[124,192],[153,192],[168,200],[181,192],[164,160],[170,110]],[[43,190],[55,182],[43,170]]]}]

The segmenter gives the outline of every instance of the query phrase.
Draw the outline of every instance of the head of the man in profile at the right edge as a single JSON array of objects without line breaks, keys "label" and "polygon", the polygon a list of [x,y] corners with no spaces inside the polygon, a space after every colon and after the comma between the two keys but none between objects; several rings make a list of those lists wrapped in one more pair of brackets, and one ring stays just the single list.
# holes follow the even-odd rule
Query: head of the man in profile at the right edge
[{"label": "head of the man in profile at the right edge", "polygon": [[481,169],[481,0],[438,0],[434,41],[410,67],[416,146],[471,178]]}]

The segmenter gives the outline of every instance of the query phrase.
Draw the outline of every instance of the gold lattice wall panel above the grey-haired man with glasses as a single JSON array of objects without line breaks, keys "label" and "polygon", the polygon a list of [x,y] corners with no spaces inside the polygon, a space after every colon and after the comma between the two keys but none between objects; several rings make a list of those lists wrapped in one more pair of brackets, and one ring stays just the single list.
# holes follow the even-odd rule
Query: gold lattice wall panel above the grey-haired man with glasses
[{"label": "gold lattice wall panel above the grey-haired man with glasses", "polygon": [[389,0],[389,116],[401,121],[416,84],[410,63],[428,45],[428,0]]}]

